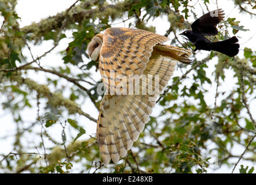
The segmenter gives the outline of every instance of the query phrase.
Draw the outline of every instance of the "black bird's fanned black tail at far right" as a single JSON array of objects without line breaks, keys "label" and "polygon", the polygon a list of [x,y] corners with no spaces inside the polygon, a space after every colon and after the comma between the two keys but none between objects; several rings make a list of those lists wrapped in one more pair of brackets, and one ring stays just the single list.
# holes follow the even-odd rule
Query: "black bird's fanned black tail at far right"
[{"label": "black bird's fanned black tail at far right", "polygon": [[227,40],[213,42],[211,50],[218,51],[229,57],[234,57],[239,52],[239,43],[236,36],[229,38]]}]

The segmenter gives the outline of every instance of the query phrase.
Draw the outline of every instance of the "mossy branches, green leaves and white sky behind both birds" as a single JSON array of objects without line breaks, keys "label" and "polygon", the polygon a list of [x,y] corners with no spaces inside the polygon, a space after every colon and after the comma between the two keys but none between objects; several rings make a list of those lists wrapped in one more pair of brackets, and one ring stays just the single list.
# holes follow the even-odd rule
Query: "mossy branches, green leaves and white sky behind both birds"
[{"label": "mossy branches, green leaves and white sky behind both birds", "polygon": [[[101,79],[97,62],[86,58],[87,44],[119,26],[159,30],[171,45],[188,48],[178,34],[225,4],[72,1],[63,12],[21,27],[21,3],[0,1],[0,172],[255,172],[256,54],[249,47],[255,33],[238,16],[255,22],[255,1],[229,1],[237,17],[225,11],[219,34],[210,38],[250,34],[239,55],[199,51],[192,66],[179,64],[140,139],[118,165],[108,166],[100,162],[95,138]],[[163,30],[160,20],[169,28]]]}]

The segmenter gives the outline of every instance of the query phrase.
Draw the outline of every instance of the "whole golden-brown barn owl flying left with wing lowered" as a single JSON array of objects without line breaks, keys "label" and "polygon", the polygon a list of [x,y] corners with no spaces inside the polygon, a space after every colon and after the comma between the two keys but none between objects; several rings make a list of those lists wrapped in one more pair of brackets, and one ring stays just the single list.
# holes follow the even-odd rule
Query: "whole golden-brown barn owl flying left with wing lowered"
[{"label": "whole golden-brown barn owl flying left with wing lowered", "polygon": [[[106,165],[111,159],[116,163],[125,157],[138,139],[159,94],[173,75],[176,62],[191,64],[191,51],[163,45],[167,40],[165,36],[141,29],[107,28],[104,34],[94,36],[87,47],[89,57],[99,62],[106,88],[97,120],[97,142]],[[134,75],[152,76],[152,79],[142,79],[137,94],[135,90],[129,94],[109,93],[116,92],[120,84],[119,90],[127,90],[133,82],[122,81],[117,76]],[[153,82],[158,82],[158,88],[140,93]]]}]

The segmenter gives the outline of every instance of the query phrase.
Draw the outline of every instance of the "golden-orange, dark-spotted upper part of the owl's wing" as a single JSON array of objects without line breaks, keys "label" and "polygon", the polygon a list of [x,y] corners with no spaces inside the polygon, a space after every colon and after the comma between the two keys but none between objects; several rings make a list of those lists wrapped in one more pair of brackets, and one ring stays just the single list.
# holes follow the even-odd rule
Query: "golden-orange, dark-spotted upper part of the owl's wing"
[{"label": "golden-orange, dark-spotted upper part of the owl's wing", "polygon": [[[108,28],[100,50],[100,72],[105,87],[114,75],[141,75],[151,57],[153,46],[169,40],[165,36],[133,28]],[[111,76],[111,72],[112,76]],[[116,85],[116,83],[113,83]]]}]

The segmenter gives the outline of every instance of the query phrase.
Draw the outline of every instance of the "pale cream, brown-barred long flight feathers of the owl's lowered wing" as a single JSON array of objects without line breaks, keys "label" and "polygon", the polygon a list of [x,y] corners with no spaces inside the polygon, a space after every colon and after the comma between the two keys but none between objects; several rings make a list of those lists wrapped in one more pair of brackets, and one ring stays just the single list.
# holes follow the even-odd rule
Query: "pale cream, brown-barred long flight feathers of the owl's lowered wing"
[{"label": "pale cream, brown-barred long flight feathers of the owl's lowered wing", "polygon": [[173,75],[175,65],[174,58],[152,55],[143,73],[152,77],[147,81],[142,79],[140,83],[140,90],[155,84],[147,94],[104,95],[97,123],[97,140],[106,165],[111,158],[116,163],[120,157],[125,157],[138,139],[160,92]]}]

